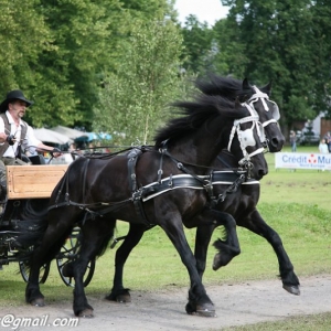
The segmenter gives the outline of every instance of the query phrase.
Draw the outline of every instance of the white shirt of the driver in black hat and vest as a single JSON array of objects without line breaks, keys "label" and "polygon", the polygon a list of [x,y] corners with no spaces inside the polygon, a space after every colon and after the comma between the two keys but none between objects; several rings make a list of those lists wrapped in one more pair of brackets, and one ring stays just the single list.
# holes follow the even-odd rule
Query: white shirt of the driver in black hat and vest
[{"label": "white shirt of the driver in black hat and vest", "polygon": [[[23,121],[20,119],[20,126],[17,127],[12,116],[7,110],[6,116],[8,118],[10,125],[10,132],[6,132],[3,119],[0,117],[0,132],[4,132],[6,135],[13,135],[17,139],[13,146],[9,146],[8,149],[4,151],[3,157],[6,158],[14,158],[17,156],[17,150],[19,147],[19,142],[21,141],[21,130],[22,126],[24,126]],[[35,153],[35,148],[42,143],[39,139],[35,138],[32,127],[26,125],[26,135],[25,139],[21,141],[21,146],[23,150],[29,150],[30,153]],[[3,145],[4,142],[0,143]]]}]

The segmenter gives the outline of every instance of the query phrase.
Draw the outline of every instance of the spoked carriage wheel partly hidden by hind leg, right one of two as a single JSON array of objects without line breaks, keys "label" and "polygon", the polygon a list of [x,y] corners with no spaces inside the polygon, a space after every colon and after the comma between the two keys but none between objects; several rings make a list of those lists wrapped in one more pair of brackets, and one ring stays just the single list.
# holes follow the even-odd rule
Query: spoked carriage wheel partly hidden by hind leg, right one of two
[{"label": "spoked carriage wheel partly hidden by hind leg, right one of two", "polygon": [[[82,238],[81,228],[75,227],[72,234],[70,235],[70,237],[65,241],[64,245],[61,248],[60,254],[56,257],[56,265],[57,265],[60,276],[66,286],[71,286],[71,287],[75,286],[74,277],[64,276],[63,268],[72,264],[77,257],[77,254],[82,245],[81,238]],[[87,269],[85,271],[84,279],[83,279],[83,284],[85,287],[92,280],[94,270],[95,270],[95,259],[90,260],[87,265]]]}]

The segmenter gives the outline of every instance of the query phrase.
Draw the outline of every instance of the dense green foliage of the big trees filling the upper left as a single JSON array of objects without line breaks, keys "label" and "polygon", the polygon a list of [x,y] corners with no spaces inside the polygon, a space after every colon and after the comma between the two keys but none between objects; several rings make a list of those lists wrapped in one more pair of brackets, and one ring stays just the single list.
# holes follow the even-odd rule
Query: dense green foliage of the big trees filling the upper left
[{"label": "dense green foliage of the big trees filling the upper left", "polygon": [[116,71],[134,19],[171,14],[167,0],[0,0],[3,98],[23,89],[35,127],[92,129],[103,73]]}]

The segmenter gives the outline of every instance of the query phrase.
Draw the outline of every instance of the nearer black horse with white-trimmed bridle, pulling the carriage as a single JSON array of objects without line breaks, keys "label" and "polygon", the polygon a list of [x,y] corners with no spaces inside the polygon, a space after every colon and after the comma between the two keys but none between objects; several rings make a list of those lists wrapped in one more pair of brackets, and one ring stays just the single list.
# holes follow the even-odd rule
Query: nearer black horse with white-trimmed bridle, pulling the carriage
[{"label": "nearer black horse with white-trimmed bridle, pulling the carriage", "polygon": [[[55,256],[75,224],[82,222],[84,241],[79,258],[64,273],[75,279],[75,314],[92,316],[83,276],[88,261],[107,246],[116,220],[122,220],[163,228],[188,269],[190,307],[197,312],[214,314],[183,225],[197,226],[195,222],[191,224],[191,220],[203,212],[205,220],[222,220],[235,229],[232,216],[204,209],[209,201],[210,166],[232,141],[229,149],[236,160],[243,166],[253,162],[252,172],[261,178],[267,173],[267,163],[256,151],[263,151],[264,135],[258,116],[247,104],[200,94],[195,100],[178,103],[178,106],[182,116],[170,120],[159,131],[153,147],[134,148],[106,160],[81,158],[71,164],[52,193],[49,225],[30,261],[28,302],[44,305],[38,282],[39,269]],[[254,160],[249,160],[249,154],[255,154]],[[153,199],[149,199],[151,195]]]}]

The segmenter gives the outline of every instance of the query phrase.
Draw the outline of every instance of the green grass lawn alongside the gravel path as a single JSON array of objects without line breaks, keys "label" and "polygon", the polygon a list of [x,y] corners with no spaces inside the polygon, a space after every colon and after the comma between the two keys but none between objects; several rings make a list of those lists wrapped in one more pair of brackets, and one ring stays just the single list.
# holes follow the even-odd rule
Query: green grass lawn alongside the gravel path
[{"label": "green grass lawn alongside the gravel path", "polygon": [[[299,151],[312,152],[314,147],[299,147]],[[303,150],[305,149],[305,150]],[[258,210],[266,222],[280,235],[285,248],[299,277],[331,274],[331,173],[316,170],[275,170],[275,156],[266,154],[269,174],[261,180]],[[125,235],[127,224],[119,222],[118,236]],[[211,268],[215,249],[210,247],[204,284],[221,285],[242,280],[275,279],[278,261],[270,245],[259,236],[238,227],[242,254],[218,271]],[[222,235],[216,231],[213,239]],[[186,229],[193,247],[195,232]],[[115,250],[107,249],[97,260],[96,271],[86,288],[88,296],[103,298],[110,291],[114,275]],[[180,257],[164,233],[156,227],[147,232],[134,249],[125,269],[125,286],[130,289],[153,290],[162,287],[186,287],[189,277]],[[18,265],[10,264],[0,271],[0,307],[20,306],[24,300],[25,284],[18,274]],[[281,284],[279,284],[281,287]],[[45,285],[42,286],[47,301],[72,299],[72,288],[62,282],[55,263]],[[331,314],[291,318],[282,322],[255,324],[224,330],[327,330]],[[314,321],[319,328],[309,325]],[[267,325],[267,327],[266,327]],[[275,327],[274,327],[275,325]],[[303,327],[307,327],[306,329]],[[296,329],[297,328],[297,329]],[[310,329],[309,329],[310,328]],[[324,329],[323,329],[324,328]],[[328,329],[329,330],[329,329]]]}]

